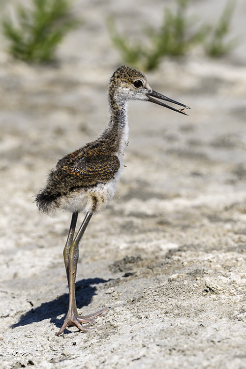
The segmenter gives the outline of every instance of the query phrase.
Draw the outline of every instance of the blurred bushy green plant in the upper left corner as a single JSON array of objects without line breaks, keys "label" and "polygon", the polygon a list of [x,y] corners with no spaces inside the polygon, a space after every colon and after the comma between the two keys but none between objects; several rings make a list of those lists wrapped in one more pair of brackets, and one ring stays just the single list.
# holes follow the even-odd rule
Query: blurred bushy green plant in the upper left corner
[{"label": "blurred bushy green plant in the upper left corner", "polygon": [[16,6],[16,24],[2,19],[9,53],[26,62],[51,62],[65,34],[79,22],[70,14],[69,0],[31,0],[31,9]]}]

